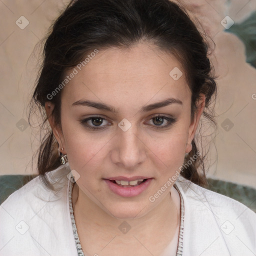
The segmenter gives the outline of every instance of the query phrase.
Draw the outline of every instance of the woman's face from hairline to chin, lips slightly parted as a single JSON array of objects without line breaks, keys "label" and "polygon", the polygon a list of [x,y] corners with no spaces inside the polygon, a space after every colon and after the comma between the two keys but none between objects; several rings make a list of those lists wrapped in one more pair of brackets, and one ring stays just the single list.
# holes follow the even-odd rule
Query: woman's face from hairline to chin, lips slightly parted
[{"label": "woman's face from hairline to chin, lips slightly parted", "polygon": [[[177,80],[169,75],[174,67],[183,72]],[[173,182],[149,200],[191,150],[203,102],[191,122],[184,70],[153,45],[99,50],[76,69],[61,91],[62,129],[49,119],[54,135],[87,201],[117,218],[140,217],[169,198]],[[137,179],[146,180],[110,181]]]}]

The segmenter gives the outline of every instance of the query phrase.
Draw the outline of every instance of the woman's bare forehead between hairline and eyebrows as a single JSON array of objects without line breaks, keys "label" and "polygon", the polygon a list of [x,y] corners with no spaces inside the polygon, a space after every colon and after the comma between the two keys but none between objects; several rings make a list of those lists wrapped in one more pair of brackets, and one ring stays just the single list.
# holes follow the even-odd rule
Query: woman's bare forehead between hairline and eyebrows
[{"label": "woman's bare forehead between hairline and eyebrows", "polygon": [[70,105],[82,98],[103,102],[114,99],[117,105],[134,106],[168,96],[182,101],[190,97],[181,63],[153,45],[99,49],[95,55],[89,54],[81,70],[74,68],[77,73],[63,89],[63,98]]}]

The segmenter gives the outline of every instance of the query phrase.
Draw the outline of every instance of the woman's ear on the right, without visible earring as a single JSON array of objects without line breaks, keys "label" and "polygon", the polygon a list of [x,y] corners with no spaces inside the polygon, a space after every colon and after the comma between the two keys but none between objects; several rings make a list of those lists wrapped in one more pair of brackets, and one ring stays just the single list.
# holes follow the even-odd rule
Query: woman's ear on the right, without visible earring
[{"label": "woman's ear on the right, without visible earring", "polygon": [[188,138],[187,138],[187,144],[185,147],[185,152],[189,153],[192,150],[192,140],[194,138],[201,114],[204,110],[205,107],[205,95],[204,94],[200,94],[200,99],[197,101],[196,104],[196,110],[194,113],[194,118],[192,120],[192,122],[189,125],[189,129],[188,129]]}]

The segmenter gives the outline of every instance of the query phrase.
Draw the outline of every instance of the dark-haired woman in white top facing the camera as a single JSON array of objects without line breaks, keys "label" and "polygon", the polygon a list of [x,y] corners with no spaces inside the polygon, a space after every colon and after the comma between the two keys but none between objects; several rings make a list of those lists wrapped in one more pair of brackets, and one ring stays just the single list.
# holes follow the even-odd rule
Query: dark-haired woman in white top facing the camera
[{"label": "dark-haired woman in white top facing the camera", "polygon": [[39,176],[1,204],[1,255],[256,253],[256,214],[203,188],[195,132],[215,94],[177,4],[71,1],[33,93],[50,125]]}]

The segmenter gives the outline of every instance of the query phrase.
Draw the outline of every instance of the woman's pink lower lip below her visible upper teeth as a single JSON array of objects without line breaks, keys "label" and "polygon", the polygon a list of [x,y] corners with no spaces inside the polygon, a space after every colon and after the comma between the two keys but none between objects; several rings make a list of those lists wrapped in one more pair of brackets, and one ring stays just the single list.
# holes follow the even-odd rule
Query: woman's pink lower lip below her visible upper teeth
[{"label": "woman's pink lower lip below her visible upper teeth", "polygon": [[112,181],[110,181],[109,179],[104,179],[104,180],[112,192],[120,196],[131,197],[131,196],[136,196],[142,193],[149,186],[152,178],[148,178],[146,181],[140,183],[137,186],[130,186],[130,187],[119,186],[113,183]]}]

